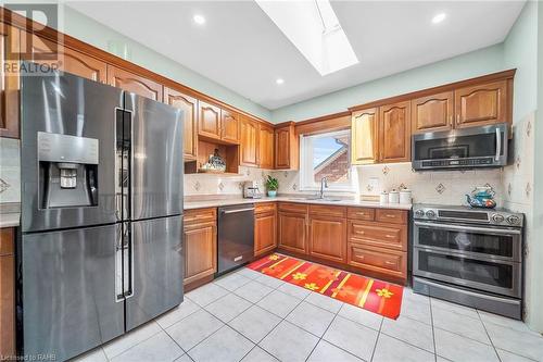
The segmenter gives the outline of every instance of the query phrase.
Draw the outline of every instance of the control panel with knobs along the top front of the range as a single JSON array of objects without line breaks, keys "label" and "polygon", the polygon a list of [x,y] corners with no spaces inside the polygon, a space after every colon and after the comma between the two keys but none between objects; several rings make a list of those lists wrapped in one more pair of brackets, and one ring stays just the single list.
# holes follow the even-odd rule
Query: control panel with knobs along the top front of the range
[{"label": "control panel with knobs along the top front of the range", "polygon": [[506,210],[473,209],[469,207],[442,207],[415,204],[413,207],[415,220],[472,223],[482,225],[501,225],[521,227],[523,214]]}]

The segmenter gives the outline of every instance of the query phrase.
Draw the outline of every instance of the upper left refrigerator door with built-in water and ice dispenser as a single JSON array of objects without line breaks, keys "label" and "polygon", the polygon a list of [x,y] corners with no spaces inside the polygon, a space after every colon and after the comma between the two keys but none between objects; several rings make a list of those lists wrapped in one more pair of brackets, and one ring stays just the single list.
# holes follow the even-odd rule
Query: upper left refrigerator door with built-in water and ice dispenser
[{"label": "upper left refrigerator door with built-in water and ice dispenser", "polygon": [[[23,76],[21,87],[23,232],[114,223],[115,108],[123,104],[122,91],[68,73]],[[77,187],[53,177],[59,167],[75,165]]]}]

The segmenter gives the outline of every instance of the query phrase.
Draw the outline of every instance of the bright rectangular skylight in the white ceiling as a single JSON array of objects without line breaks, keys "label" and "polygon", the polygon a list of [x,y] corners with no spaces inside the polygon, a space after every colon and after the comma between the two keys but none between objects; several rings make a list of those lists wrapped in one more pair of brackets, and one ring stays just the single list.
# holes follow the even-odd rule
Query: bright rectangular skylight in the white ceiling
[{"label": "bright rectangular skylight in the white ceiling", "polygon": [[358,63],[329,0],[255,0],[320,75]]}]

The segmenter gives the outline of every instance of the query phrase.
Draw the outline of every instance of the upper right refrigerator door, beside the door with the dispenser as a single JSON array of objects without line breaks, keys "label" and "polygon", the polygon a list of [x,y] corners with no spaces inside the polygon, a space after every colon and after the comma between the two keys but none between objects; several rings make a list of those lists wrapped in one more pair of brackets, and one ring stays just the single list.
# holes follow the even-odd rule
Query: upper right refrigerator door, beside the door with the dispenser
[{"label": "upper right refrigerator door, beside the door with the dispenser", "polygon": [[182,111],[125,92],[131,113],[131,220],[182,211]]}]

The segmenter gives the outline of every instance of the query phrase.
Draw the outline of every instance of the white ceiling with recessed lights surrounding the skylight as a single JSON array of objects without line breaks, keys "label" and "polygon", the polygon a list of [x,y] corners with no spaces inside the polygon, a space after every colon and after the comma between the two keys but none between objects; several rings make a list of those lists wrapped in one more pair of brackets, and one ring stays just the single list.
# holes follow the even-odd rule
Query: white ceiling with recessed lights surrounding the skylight
[{"label": "white ceiling with recessed lights surrounding the skylight", "polygon": [[[70,7],[270,110],[503,41],[525,1],[333,1],[359,63],[318,72],[253,1]],[[433,25],[439,12],[447,17]],[[194,14],[206,18],[193,23]],[[285,79],[276,85],[276,78]]]}]

